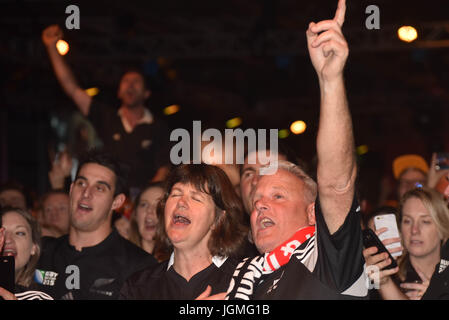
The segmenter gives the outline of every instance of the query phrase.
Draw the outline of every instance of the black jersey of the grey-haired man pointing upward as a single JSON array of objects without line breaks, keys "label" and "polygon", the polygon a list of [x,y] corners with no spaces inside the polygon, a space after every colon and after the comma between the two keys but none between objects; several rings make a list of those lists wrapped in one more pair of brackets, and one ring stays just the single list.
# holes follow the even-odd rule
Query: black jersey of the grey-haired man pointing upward
[{"label": "black jersey of the grey-haired man pointing upward", "polygon": [[[252,300],[357,299],[367,298],[368,289],[362,255],[360,208],[354,199],[344,224],[329,233],[316,201],[316,234],[305,241],[290,261],[272,273],[264,274],[249,297]],[[246,269],[234,277],[239,283]],[[242,278],[240,278],[242,279]],[[238,292],[230,290],[230,298]]]}]

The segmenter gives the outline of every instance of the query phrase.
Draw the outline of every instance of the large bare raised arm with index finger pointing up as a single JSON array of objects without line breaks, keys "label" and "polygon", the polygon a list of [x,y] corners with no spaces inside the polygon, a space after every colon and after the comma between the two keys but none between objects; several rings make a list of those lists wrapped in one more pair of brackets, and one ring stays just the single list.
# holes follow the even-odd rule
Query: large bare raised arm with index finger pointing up
[{"label": "large bare raised arm with index finger pointing up", "polygon": [[317,182],[329,232],[336,232],[351,208],[357,173],[351,114],[343,79],[349,49],[342,34],[345,0],[335,17],[310,23],[307,45],[320,84],[321,107],[317,136]]}]

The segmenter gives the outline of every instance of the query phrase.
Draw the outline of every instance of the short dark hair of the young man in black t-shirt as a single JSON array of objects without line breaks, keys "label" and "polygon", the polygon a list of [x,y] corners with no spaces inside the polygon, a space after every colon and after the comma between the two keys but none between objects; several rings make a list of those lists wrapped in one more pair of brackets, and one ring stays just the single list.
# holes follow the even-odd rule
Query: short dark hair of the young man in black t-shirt
[{"label": "short dark hair of the young man in black t-shirt", "polygon": [[96,163],[114,172],[114,197],[120,193],[128,195],[128,177],[130,168],[124,163],[120,162],[115,155],[107,153],[98,148],[90,149],[89,151],[87,151],[87,153],[82,155],[78,170],[76,171],[76,177],[78,177],[81,168],[88,163]]}]

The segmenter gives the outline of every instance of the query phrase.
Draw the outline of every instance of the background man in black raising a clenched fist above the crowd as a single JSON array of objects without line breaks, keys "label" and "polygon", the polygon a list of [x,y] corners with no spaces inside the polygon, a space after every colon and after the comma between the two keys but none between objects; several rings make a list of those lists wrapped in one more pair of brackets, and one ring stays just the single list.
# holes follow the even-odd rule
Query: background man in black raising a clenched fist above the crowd
[{"label": "background man in black raising a clenched fist above the crowd", "polygon": [[169,131],[145,106],[151,91],[143,74],[137,69],[123,74],[117,92],[121,101],[118,110],[102,105],[79,86],[59,54],[56,43],[61,38],[62,30],[57,25],[42,32],[56,78],[80,112],[91,121],[105,150],[132,168],[130,187],[142,187],[151,179],[162,180],[169,162]]}]

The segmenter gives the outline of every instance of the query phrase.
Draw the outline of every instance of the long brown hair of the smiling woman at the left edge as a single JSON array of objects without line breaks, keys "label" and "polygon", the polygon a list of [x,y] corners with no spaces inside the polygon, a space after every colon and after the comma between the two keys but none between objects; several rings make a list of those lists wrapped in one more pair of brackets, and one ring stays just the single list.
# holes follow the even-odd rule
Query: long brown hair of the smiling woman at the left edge
[{"label": "long brown hair of the smiling woman at the left edge", "polygon": [[[32,280],[36,265],[39,261],[41,253],[41,229],[39,223],[34,219],[34,217],[21,208],[14,207],[4,207],[0,210],[0,222],[2,222],[3,216],[9,212],[16,212],[20,214],[30,226],[31,230],[31,241],[36,245],[36,253],[30,257],[27,264],[23,267],[20,273],[16,274],[15,282],[24,287],[29,287],[32,285]],[[0,223],[3,225],[3,223]]]}]

